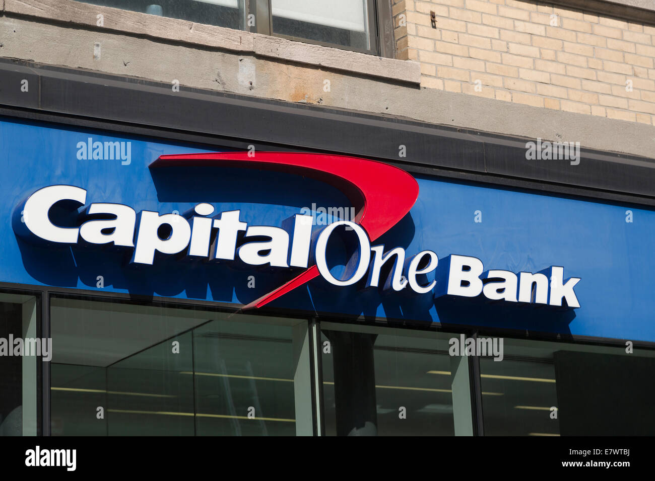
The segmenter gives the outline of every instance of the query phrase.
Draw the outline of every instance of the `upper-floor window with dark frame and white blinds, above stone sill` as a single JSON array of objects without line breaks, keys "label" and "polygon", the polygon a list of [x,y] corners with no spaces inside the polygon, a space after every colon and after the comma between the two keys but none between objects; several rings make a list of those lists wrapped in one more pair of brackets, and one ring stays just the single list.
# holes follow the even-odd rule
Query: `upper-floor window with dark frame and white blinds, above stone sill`
[{"label": "upper-floor window with dark frame and white blinds, above stone sill", "polygon": [[370,54],[381,53],[379,14],[390,16],[388,1],[377,0],[82,1]]}]

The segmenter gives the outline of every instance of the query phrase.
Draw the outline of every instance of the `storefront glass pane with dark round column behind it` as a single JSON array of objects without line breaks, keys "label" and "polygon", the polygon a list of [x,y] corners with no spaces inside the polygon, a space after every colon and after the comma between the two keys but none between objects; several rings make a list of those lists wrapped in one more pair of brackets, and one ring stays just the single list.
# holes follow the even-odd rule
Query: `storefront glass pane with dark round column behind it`
[{"label": "storefront glass pane with dark round column behind it", "polygon": [[452,436],[453,400],[470,429],[470,389],[453,389],[451,337],[322,323],[326,435]]}]

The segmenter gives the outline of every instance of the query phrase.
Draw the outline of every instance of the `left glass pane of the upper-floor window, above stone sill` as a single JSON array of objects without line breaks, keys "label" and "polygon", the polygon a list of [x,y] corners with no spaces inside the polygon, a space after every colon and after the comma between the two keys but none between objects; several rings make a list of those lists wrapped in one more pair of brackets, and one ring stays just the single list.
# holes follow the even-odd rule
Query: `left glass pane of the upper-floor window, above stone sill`
[{"label": "left glass pane of the upper-floor window, above stone sill", "polygon": [[244,28],[244,0],[81,0],[84,3],[132,10],[198,24]]}]

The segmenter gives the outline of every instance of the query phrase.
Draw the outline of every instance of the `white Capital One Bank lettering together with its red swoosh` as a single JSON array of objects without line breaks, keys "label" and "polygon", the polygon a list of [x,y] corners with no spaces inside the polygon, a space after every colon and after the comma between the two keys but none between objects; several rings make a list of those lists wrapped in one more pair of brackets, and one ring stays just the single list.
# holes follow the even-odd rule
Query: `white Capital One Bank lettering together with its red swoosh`
[{"label": "white Capital One Bank lettering together with its red swoosh", "polygon": [[[87,204],[87,191],[74,185],[39,188],[16,206],[12,225],[16,236],[50,245],[91,245],[131,249],[130,264],[151,265],[155,254],[207,261],[242,262],[250,266],[302,268],[271,293],[244,308],[259,308],[314,277],[335,286],[364,281],[365,287],[435,297],[457,296],[504,302],[579,308],[574,286],[580,279],[564,279],[564,268],[542,272],[484,270],[476,257],[449,255],[441,260],[434,251],[408,256],[402,247],[371,245],[402,219],[415,204],[419,185],[409,173],[362,158],[287,152],[221,152],[160,156],[150,168],[215,166],[256,168],[299,173],[339,188],[356,207],[352,221],[335,221],[312,232],[311,215],[294,215],[282,226],[251,225],[240,210],[215,212],[202,202],[182,215],[143,210],[109,202]],[[58,225],[52,208],[67,211],[77,225]],[[346,230],[344,227],[348,227]],[[352,230],[352,232],[350,232]],[[241,240],[240,240],[241,238]],[[330,241],[352,244],[352,256],[343,275],[331,272]],[[390,265],[381,278],[383,266]],[[211,268],[208,263],[207,268]],[[385,271],[386,272],[386,271]]]}]

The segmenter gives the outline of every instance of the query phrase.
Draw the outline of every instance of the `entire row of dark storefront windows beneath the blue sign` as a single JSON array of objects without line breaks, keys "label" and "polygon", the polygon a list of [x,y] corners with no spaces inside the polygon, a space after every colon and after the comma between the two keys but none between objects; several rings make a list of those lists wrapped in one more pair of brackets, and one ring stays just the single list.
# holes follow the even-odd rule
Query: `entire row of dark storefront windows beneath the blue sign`
[{"label": "entire row of dark storefront windows beneath the blue sign", "polygon": [[[451,356],[464,334],[434,329],[46,300],[50,344],[39,296],[0,293],[0,436],[451,436],[480,421],[491,436],[655,430],[655,351],[643,347],[504,338],[497,362]],[[7,355],[16,338],[42,348]]]}]

